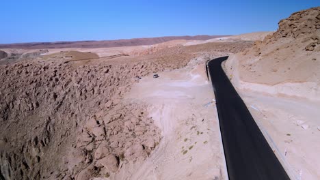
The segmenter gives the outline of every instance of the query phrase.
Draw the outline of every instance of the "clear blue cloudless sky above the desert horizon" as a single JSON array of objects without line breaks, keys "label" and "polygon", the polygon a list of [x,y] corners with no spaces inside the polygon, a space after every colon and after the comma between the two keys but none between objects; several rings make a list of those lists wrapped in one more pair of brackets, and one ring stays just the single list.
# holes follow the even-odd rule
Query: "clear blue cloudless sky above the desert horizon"
[{"label": "clear blue cloudless sky above the desert horizon", "polygon": [[319,0],[4,0],[0,43],[274,31]]}]

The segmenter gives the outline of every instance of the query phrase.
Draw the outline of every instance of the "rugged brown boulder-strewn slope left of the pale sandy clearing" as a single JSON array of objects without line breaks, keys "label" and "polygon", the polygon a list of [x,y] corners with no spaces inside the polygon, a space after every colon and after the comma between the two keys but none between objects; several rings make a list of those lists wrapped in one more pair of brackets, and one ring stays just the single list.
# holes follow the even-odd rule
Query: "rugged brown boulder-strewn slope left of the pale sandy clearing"
[{"label": "rugged brown boulder-strewn slope left of the pale sandy clearing", "polygon": [[[129,142],[142,145],[144,136],[155,135],[159,142],[159,130],[144,110],[139,110],[144,115],[135,116],[130,129],[124,125],[131,121],[131,110],[138,108],[119,101],[136,80],[133,77],[148,74],[154,67],[129,63],[73,69],[68,63],[45,61],[2,66],[1,175],[5,179],[74,177],[82,172],[81,167],[96,163],[94,151],[103,142],[117,158]],[[146,132],[135,134],[137,127]],[[145,148],[137,154],[146,156],[148,151]],[[70,153],[73,159],[67,158]]]}]

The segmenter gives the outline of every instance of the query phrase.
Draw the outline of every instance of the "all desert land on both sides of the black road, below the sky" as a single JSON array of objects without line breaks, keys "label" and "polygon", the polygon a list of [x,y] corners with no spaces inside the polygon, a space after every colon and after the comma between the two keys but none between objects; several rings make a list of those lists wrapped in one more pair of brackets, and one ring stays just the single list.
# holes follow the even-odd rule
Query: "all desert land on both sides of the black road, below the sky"
[{"label": "all desert land on both sides of the black road, below the sky", "polygon": [[[320,179],[320,7],[274,32],[0,45],[0,179],[228,179],[206,62]],[[158,74],[158,78],[153,78]]]}]

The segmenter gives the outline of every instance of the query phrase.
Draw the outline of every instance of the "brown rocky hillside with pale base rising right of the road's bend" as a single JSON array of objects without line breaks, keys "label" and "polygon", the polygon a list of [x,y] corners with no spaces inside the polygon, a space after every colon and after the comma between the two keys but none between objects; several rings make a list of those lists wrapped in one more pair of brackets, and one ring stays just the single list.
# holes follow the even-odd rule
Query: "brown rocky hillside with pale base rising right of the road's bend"
[{"label": "brown rocky hillside with pale base rising right of the road's bend", "polygon": [[278,30],[226,63],[235,83],[256,91],[320,100],[320,7],[292,14]]}]

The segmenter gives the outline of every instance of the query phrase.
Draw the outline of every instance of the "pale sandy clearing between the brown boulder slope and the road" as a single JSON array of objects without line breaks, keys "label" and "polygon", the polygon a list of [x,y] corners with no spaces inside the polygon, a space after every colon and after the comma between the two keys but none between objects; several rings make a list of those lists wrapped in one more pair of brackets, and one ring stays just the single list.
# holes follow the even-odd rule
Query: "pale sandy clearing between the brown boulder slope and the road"
[{"label": "pale sandy clearing between the brown boulder slope and the road", "polygon": [[[226,179],[226,167],[211,84],[204,65],[147,76],[126,95],[149,104],[163,139],[146,162],[122,168],[128,179]],[[119,177],[115,179],[121,179]]]}]

